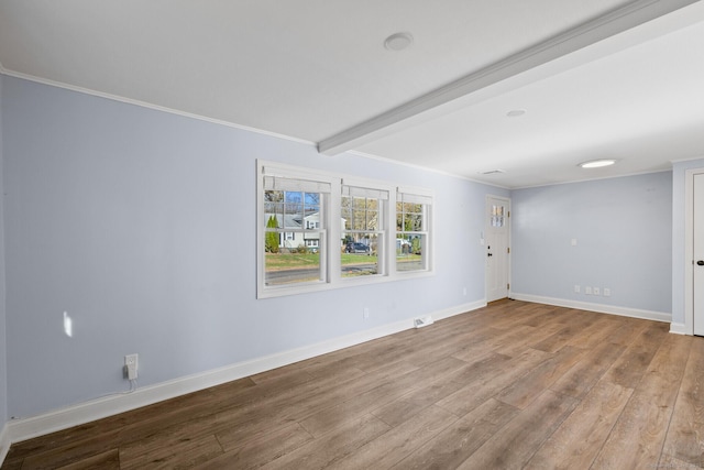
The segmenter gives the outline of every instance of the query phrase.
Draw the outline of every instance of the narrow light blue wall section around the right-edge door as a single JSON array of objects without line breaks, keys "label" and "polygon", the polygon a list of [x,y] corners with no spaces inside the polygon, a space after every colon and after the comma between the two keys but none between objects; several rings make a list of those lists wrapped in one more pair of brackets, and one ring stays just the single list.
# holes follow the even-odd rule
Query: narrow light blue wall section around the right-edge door
[{"label": "narrow light blue wall section around the right-edge door", "polygon": [[672,168],[672,323],[675,324],[684,324],[684,178],[692,168],[704,168],[704,159],[675,163]]}]

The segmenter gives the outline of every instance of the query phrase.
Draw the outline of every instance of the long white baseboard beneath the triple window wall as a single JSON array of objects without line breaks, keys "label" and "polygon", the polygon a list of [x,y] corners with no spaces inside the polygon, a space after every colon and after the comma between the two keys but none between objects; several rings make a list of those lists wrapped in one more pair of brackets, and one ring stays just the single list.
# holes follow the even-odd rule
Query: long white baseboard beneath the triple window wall
[{"label": "long white baseboard beneath the triple window wall", "polygon": [[[477,300],[470,304],[458,305],[443,310],[432,311],[437,320],[475,310],[486,306],[486,302]],[[43,436],[69,427],[90,423],[119,413],[151,405],[164,400],[174,398],[187,393],[220,385],[233,380],[265,372],[272,369],[288,365],[294,362],[310,359],[339,349],[349,348],[384,336],[414,328],[414,319],[408,318],[359,331],[352,335],[333,338],[316,345],[306,346],[289,351],[239,362],[223,368],[201,372],[163,382],[155,385],[138,389],[130,394],[110,395],[101,398],[84,402],[78,405],[52,411],[38,416],[11,420],[3,430],[2,436],[9,442],[19,442],[33,437]],[[8,433],[9,429],[9,433]],[[9,436],[8,436],[9,435]],[[0,440],[0,445],[2,441]],[[8,446],[9,447],[9,446]]]}]

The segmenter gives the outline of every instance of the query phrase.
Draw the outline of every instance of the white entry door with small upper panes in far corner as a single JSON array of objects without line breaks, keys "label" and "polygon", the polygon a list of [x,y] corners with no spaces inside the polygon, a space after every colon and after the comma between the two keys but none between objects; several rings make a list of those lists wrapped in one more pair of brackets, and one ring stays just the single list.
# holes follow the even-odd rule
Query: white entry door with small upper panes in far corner
[{"label": "white entry door with small upper panes in far corner", "polygon": [[486,302],[508,297],[509,200],[486,197]]}]

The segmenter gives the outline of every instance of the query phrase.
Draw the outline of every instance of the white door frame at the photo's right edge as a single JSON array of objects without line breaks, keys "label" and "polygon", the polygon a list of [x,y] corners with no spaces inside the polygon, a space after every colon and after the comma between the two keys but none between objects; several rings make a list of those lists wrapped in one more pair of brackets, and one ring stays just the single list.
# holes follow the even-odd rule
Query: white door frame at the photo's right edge
[{"label": "white door frame at the photo's right edge", "polygon": [[686,170],[684,174],[684,334],[694,336],[694,175],[704,168]]}]

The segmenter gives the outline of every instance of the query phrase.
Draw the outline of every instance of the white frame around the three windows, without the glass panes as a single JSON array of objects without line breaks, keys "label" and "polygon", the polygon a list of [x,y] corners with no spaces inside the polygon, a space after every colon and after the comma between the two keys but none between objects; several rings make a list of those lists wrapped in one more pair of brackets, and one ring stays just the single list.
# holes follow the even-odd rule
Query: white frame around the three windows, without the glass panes
[{"label": "white frame around the three windows, without the glass panes", "polygon": [[[279,297],[295,294],[304,294],[331,288],[348,287],[351,285],[377,284],[380,282],[389,282],[405,280],[417,276],[432,275],[432,259],[435,237],[432,229],[432,201],[433,193],[427,188],[397,186],[388,182],[373,181],[369,178],[360,178],[337,173],[307,170],[299,166],[287,165],[271,161],[257,160],[257,183],[256,183],[256,265],[257,265],[257,298]],[[266,178],[266,183],[265,183]],[[282,181],[293,179],[302,181],[306,184],[316,183],[320,187],[329,188],[324,193],[326,197],[321,200],[319,229],[320,239],[318,243],[318,252],[320,253],[320,281],[319,282],[301,282],[285,285],[268,286],[265,284],[265,233],[266,233],[266,215],[264,214],[264,190],[267,185],[272,185],[272,178],[280,178]],[[340,242],[344,226],[341,223],[341,198],[342,188],[355,187],[364,188],[374,194],[381,192],[387,194],[387,199],[383,199],[383,245],[377,248],[378,273],[371,275],[360,275],[352,277],[342,277],[341,271],[341,251]],[[285,190],[285,189],[284,189]],[[381,194],[376,193],[376,194]],[[427,225],[427,244],[424,252],[427,252],[425,270],[403,271],[396,270],[396,198],[398,194],[415,194],[422,196],[424,200],[429,201],[428,214],[424,218]],[[305,225],[304,225],[305,226]],[[290,231],[290,230],[288,230]]]}]

